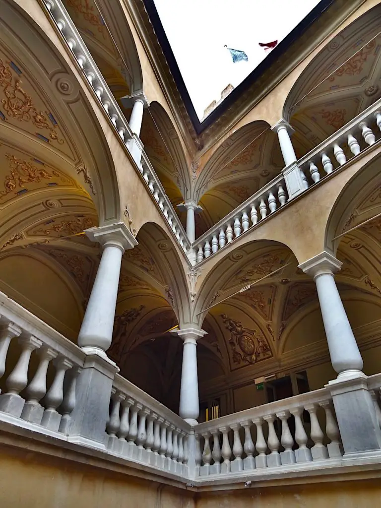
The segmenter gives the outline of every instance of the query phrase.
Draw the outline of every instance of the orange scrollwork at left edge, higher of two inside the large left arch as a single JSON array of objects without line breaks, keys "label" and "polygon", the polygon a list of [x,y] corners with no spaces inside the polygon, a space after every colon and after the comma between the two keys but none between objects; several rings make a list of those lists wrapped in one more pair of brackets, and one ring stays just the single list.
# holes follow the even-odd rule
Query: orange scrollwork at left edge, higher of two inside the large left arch
[{"label": "orange scrollwork at left edge, higher of two inside the large left arch", "polygon": [[[0,58],[0,86],[3,87],[5,99],[2,99],[4,110],[11,118],[16,118],[20,122],[32,121],[38,129],[47,129],[49,137],[53,141],[63,144],[63,139],[58,138],[55,131],[48,123],[48,118],[42,111],[38,111],[33,104],[29,94],[21,88],[22,81],[17,77],[13,77],[11,67],[5,65]],[[47,113],[49,116],[49,113]]]}]

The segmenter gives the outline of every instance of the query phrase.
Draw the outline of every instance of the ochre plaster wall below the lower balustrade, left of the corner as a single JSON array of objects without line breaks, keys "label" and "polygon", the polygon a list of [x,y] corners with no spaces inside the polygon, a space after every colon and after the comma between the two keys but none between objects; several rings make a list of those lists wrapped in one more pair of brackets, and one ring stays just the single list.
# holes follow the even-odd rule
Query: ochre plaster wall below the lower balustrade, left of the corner
[{"label": "ochre plaster wall below the lower balustrade, left of the corner", "polygon": [[194,508],[193,493],[114,471],[0,448],[2,508]]}]

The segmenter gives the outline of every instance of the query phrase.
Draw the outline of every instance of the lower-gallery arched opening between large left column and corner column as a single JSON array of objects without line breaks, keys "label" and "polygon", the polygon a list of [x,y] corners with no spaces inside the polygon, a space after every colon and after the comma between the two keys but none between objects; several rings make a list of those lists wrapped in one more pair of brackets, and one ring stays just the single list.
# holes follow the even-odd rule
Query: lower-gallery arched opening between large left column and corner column
[{"label": "lower-gallery arched opening between large left column and corner column", "polygon": [[189,320],[186,282],[162,229],[147,223],[137,240],[123,256],[108,355],[121,375],[177,411],[182,342],[170,330]]}]

